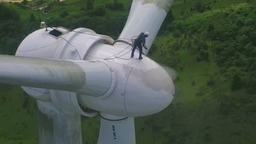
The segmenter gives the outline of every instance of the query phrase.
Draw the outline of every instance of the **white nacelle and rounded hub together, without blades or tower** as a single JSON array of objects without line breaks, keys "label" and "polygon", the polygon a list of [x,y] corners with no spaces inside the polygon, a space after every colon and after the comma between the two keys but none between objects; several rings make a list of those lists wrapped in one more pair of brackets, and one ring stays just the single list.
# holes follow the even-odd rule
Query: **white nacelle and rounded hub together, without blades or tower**
[{"label": "white nacelle and rounded hub together, without blades or tower", "polygon": [[[131,46],[125,44],[128,49],[124,49],[109,45],[114,42],[113,39],[97,36],[92,30],[80,28],[74,31],[62,35],[62,38],[55,38],[47,34],[49,31],[37,30],[21,43],[16,55],[101,60],[114,71],[110,90],[102,97],[78,94],[77,99],[77,94],[72,92],[22,87],[31,97],[53,102],[63,113],[72,112],[85,116],[97,115],[96,111],[122,117],[146,116],[158,113],[171,103],[174,95],[172,79],[156,62],[147,57],[138,60],[138,51],[135,51],[134,58],[130,59]],[[86,31],[90,33],[84,34]],[[75,48],[75,51],[72,51],[72,48]],[[82,108],[95,111],[93,114],[86,114]]]}]

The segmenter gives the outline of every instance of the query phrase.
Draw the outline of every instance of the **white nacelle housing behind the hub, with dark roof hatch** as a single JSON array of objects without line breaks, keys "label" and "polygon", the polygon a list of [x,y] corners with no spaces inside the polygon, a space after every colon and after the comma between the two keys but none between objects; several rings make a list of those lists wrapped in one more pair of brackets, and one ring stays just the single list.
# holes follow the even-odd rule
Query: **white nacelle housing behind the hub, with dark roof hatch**
[{"label": "white nacelle housing behind the hub, with dark roof hatch", "polygon": [[[71,32],[62,27],[56,28],[63,32],[60,37],[50,35],[49,33],[53,28],[48,29],[49,31],[39,29],[27,36],[20,44],[16,55],[22,57],[83,60],[85,55],[87,55],[95,45],[101,43],[112,44],[114,42],[110,37],[102,37],[101,35],[95,34],[94,31],[85,28],[78,28]],[[105,61],[102,62],[105,63]],[[111,67],[107,62],[105,65],[109,68]],[[91,68],[87,67],[88,70]],[[90,73],[90,71],[88,72]],[[114,89],[115,74],[111,74],[113,83],[111,83],[109,91],[103,94],[102,97],[106,97]],[[89,81],[90,78],[87,78],[87,82]],[[53,102],[57,109],[66,114],[78,113],[85,116],[95,116],[98,114],[97,111],[82,107],[77,100],[76,93],[57,90],[50,91],[49,89],[39,89],[33,86],[22,86],[22,89],[39,101]],[[85,110],[89,110],[89,112],[87,113]]]}]

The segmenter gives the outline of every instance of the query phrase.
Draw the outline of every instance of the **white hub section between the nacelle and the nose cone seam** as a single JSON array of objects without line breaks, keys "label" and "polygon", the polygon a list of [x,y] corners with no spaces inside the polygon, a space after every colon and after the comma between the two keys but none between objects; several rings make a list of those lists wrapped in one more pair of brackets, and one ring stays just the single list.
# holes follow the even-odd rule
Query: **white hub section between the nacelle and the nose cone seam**
[{"label": "white hub section between the nacelle and the nose cone seam", "polygon": [[[90,51],[90,53],[87,55],[85,60],[108,58],[121,52],[122,50],[123,49],[120,49],[111,45],[99,44]],[[129,52],[129,50],[127,50],[127,52]],[[126,58],[126,57],[127,55],[124,55],[122,58]],[[111,58],[115,58],[115,57],[111,57]],[[135,63],[137,62],[137,60],[112,59],[112,60],[106,60],[106,61],[111,63],[111,65],[113,65],[113,67],[116,70],[115,89],[105,99],[95,99],[95,98],[92,99],[90,97],[85,97],[83,94],[79,94],[79,102],[81,102],[83,106],[87,108],[91,108],[97,111],[102,111],[111,115],[129,117],[124,107],[125,85],[126,85],[129,73],[133,65],[135,65]]]}]

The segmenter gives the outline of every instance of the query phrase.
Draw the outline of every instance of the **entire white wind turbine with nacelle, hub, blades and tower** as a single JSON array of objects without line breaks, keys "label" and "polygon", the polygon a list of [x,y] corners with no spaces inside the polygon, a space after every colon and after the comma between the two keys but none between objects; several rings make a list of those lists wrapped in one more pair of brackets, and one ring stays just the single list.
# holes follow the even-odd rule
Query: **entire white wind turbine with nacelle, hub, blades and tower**
[{"label": "entire white wind turbine with nacelle, hub, blades and tower", "polygon": [[[39,29],[15,56],[0,55],[0,83],[20,85],[37,100],[39,143],[82,144],[81,115],[101,117],[98,144],[134,144],[134,117],[170,105],[174,85],[129,40],[149,31],[153,43],[173,0],[133,0],[117,41],[93,30]],[[144,52],[147,54],[147,51]]]}]

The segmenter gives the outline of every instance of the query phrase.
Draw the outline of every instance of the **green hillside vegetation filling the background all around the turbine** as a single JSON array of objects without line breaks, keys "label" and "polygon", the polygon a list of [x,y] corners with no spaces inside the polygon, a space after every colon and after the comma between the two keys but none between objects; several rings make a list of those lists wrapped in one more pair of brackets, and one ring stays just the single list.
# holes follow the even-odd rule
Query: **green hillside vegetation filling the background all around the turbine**
[{"label": "green hillside vegetation filling the background all around the turbine", "polygon": [[[47,7],[48,25],[118,37],[131,2],[55,1]],[[13,54],[38,29],[42,12],[29,10],[29,3],[0,4],[0,53]],[[175,97],[154,119],[135,118],[137,143],[256,143],[254,23],[252,0],[174,2],[149,53],[177,72]],[[35,101],[17,86],[1,85],[0,95],[0,143],[35,143]],[[84,143],[97,143],[100,118],[83,120]]]}]

